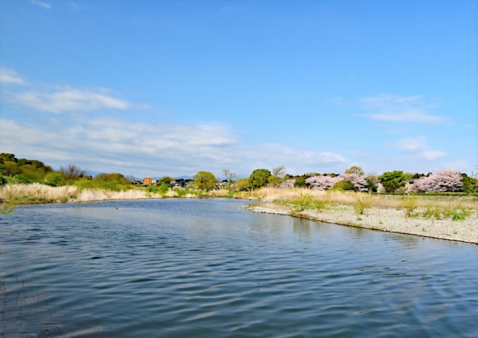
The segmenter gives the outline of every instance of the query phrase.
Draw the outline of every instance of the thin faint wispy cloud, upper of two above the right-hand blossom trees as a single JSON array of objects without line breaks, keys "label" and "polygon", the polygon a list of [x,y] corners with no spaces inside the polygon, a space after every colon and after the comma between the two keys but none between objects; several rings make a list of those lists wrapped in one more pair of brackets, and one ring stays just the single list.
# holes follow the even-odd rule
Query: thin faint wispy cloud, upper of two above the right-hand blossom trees
[{"label": "thin faint wispy cloud, upper of two above the right-hand blossom trees", "polygon": [[436,105],[427,103],[423,96],[380,94],[362,98],[363,116],[392,122],[441,123],[448,118],[430,113]]}]

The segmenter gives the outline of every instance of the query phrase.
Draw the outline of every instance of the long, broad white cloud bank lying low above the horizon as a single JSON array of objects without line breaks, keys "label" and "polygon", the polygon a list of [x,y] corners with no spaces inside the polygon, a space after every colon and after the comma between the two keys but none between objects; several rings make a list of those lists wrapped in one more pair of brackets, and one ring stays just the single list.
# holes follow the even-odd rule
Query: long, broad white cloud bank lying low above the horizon
[{"label": "long, broad white cloud bank lying low above the horizon", "polygon": [[91,118],[81,125],[26,125],[0,120],[2,152],[51,166],[76,163],[95,171],[134,175],[191,175],[223,168],[249,175],[256,168],[294,166],[296,174],[334,170],[348,161],[340,154],[279,144],[245,145],[222,125],[173,125]]}]

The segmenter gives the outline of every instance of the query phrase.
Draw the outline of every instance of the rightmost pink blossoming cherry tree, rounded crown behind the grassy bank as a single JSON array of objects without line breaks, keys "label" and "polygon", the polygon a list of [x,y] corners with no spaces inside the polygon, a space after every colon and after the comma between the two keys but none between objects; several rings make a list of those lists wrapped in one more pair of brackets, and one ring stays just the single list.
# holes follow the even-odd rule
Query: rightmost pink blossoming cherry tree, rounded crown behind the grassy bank
[{"label": "rightmost pink blossoming cherry tree, rounded crown behind the grassy bank", "polygon": [[463,184],[461,183],[459,172],[454,169],[444,169],[435,172],[429,177],[417,179],[411,186],[411,190],[419,193],[426,193],[427,191],[443,193],[445,191],[459,191],[461,186]]}]

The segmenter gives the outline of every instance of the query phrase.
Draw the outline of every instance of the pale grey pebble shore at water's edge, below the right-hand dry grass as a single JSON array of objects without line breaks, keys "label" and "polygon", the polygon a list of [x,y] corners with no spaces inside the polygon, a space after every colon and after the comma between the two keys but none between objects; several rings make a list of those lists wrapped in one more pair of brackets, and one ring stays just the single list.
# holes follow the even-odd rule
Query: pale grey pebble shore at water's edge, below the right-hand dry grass
[{"label": "pale grey pebble shore at water's edge, below the right-hand dry grass", "polygon": [[334,206],[322,212],[306,210],[300,213],[294,213],[287,206],[274,204],[249,205],[245,208],[256,213],[293,215],[318,222],[478,244],[477,211],[472,211],[466,220],[453,221],[451,218],[436,220],[407,217],[404,211],[395,208],[370,208],[363,215],[357,215],[352,206],[346,205]]}]

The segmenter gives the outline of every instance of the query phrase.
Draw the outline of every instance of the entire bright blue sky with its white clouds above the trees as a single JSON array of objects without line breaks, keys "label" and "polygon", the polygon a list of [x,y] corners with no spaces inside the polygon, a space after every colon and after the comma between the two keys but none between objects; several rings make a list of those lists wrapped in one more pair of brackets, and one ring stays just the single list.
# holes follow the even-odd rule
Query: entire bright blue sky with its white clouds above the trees
[{"label": "entire bright blue sky with its white clouds above the trees", "polygon": [[0,152],[137,177],[478,165],[476,1],[0,3]]}]

